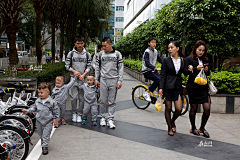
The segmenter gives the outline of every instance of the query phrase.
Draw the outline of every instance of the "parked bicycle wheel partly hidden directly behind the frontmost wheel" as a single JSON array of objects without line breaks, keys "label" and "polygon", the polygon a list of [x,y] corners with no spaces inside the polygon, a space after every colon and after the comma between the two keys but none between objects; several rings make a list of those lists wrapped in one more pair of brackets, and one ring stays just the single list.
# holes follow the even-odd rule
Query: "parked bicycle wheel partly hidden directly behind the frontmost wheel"
[{"label": "parked bicycle wheel partly hidden directly behind the frontmost wheel", "polygon": [[0,124],[18,126],[22,130],[26,131],[28,134],[31,130],[30,123],[22,117],[17,117],[15,115],[5,115],[0,118]]}]

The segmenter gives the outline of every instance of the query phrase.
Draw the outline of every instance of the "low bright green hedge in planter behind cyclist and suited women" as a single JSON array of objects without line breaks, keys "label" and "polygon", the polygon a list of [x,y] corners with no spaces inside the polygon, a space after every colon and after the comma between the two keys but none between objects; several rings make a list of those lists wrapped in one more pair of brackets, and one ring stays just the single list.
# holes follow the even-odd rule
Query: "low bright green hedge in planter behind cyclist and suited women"
[{"label": "low bright green hedge in planter behind cyclist and suited women", "polygon": [[[141,60],[123,59],[123,62],[124,66],[141,72]],[[158,63],[156,66],[161,68],[160,63]],[[188,76],[184,76],[182,74],[182,78],[182,83],[186,84]],[[218,89],[218,94],[240,94],[240,73],[233,73],[228,71],[211,72],[211,78],[216,88]]]}]

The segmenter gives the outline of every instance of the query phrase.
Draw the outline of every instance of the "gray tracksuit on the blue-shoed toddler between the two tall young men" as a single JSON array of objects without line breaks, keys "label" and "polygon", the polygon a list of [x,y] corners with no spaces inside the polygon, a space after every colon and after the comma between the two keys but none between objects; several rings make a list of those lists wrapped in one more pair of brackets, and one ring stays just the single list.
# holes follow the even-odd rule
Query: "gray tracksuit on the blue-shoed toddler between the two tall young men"
[{"label": "gray tracksuit on the blue-shoed toddler between the two tall young men", "polygon": [[98,115],[98,105],[97,105],[97,95],[98,89],[95,85],[89,86],[87,83],[79,85],[80,89],[84,91],[84,108],[83,108],[83,119],[87,119],[89,110],[91,109],[92,121],[97,120]]}]

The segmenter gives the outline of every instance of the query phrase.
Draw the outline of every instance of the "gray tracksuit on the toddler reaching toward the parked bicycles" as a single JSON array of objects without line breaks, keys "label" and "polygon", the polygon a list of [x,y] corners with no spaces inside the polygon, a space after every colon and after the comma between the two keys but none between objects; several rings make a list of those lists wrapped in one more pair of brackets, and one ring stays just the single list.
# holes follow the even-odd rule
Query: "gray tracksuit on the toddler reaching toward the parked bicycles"
[{"label": "gray tracksuit on the toddler reaching toward the parked bicycles", "polygon": [[59,118],[57,103],[50,96],[44,104],[42,99],[38,98],[35,104],[27,111],[28,113],[36,112],[37,132],[42,139],[42,147],[48,147],[53,127],[52,122]]}]

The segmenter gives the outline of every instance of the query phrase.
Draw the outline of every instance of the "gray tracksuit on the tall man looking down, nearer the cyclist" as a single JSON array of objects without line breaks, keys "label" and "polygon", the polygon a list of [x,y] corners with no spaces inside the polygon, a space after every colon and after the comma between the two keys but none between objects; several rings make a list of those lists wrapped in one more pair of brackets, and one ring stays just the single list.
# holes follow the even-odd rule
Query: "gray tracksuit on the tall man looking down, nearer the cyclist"
[{"label": "gray tracksuit on the tall man looking down, nearer the cyclist", "polygon": [[108,119],[114,118],[117,96],[116,87],[117,83],[122,84],[122,80],[123,60],[121,53],[114,48],[110,53],[101,51],[97,58],[95,82],[100,81],[100,112],[103,118],[105,118],[107,107],[109,107]]}]

